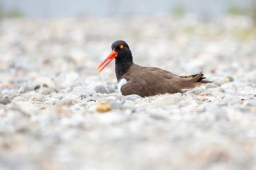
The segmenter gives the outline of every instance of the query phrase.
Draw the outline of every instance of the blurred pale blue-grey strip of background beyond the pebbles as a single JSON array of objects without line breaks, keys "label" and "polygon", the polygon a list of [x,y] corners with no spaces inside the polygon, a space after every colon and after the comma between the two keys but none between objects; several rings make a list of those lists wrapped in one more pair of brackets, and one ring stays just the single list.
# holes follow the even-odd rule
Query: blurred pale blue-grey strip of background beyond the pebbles
[{"label": "blurred pale blue-grey strip of background beyond the pebbles", "polygon": [[207,14],[249,13],[255,6],[255,0],[1,0],[1,12],[6,16],[24,17],[75,17],[80,14],[91,16],[120,16],[129,14]]}]

